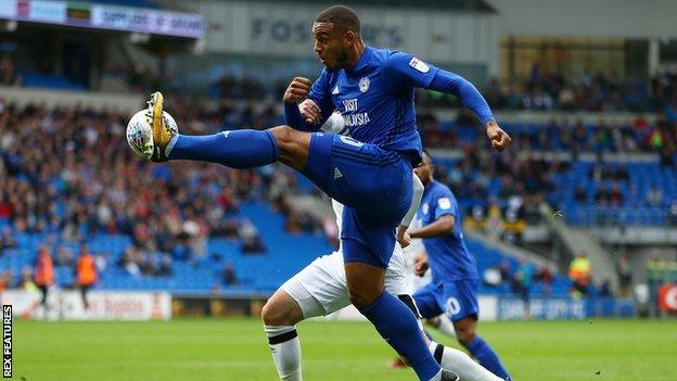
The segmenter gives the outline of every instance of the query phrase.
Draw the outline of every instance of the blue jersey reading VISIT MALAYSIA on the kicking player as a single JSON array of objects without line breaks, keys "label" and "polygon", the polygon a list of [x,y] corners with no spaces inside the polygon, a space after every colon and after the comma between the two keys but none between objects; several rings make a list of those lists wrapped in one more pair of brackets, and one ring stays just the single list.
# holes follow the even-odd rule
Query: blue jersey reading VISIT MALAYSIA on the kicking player
[{"label": "blue jersey reading VISIT MALAYSIA on the kicking player", "polygon": [[352,69],[324,68],[308,98],[324,118],[338,110],[354,139],[403,152],[418,164],[413,90],[429,87],[437,71],[411,54],[367,47]]}]

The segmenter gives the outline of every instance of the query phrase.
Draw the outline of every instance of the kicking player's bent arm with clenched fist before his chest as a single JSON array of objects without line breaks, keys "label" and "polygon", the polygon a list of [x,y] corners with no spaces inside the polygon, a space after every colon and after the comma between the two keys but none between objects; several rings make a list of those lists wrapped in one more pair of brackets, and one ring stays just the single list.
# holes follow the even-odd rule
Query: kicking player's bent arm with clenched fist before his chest
[{"label": "kicking player's bent arm with clenched fist before his chest", "polygon": [[[302,115],[298,102],[306,100],[306,98],[311,100],[310,103],[306,103],[306,106],[315,109],[319,115],[318,118],[312,119]],[[315,82],[308,78],[294,78],[284,91],[283,101],[286,125],[303,131],[317,131],[334,111],[329,98],[325,72],[322,72],[322,75]]]}]

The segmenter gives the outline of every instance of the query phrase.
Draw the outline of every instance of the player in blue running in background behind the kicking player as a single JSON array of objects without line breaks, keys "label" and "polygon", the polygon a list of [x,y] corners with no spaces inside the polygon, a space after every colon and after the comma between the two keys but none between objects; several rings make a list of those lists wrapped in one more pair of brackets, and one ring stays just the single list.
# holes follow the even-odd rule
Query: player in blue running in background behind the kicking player
[{"label": "player in blue running in background behind the kicking player", "polygon": [[416,304],[425,319],[446,314],[459,343],[485,368],[510,380],[496,352],[476,333],[477,267],[463,241],[456,198],[447,186],[434,180],[427,153],[423,153],[423,164],[414,172],[425,187],[417,214],[421,228],[409,232],[411,238],[422,239],[425,247],[414,270],[425,272],[430,265],[432,272],[431,282],[414,292]]}]

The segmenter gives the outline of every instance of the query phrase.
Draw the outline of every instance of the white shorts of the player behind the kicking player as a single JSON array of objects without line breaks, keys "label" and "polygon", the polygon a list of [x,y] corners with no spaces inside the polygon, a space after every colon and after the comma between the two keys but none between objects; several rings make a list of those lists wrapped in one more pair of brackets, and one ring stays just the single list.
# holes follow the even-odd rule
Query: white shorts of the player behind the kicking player
[{"label": "white shorts of the player behind the kicking player", "polygon": [[[401,249],[397,244],[395,246],[385,271],[385,291],[395,296],[410,295]],[[315,259],[280,289],[298,303],[305,319],[327,316],[350,305],[343,253],[336,251]]]}]

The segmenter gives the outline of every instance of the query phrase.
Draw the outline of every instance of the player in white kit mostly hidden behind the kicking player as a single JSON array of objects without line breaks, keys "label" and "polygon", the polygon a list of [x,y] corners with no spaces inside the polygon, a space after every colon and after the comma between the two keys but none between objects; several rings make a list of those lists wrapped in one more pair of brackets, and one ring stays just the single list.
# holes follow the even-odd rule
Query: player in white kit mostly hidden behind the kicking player
[{"label": "player in white kit mostly hidden behind the kicking player", "polygon": [[[340,115],[332,115],[322,126],[323,131],[343,131],[344,120]],[[414,176],[413,202],[403,219],[401,231],[406,231],[418,208],[423,185]],[[332,201],[336,225],[341,229],[343,205]],[[385,271],[385,291],[398,297],[413,314],[419,315],[407,282],[407,267],[403,256],[403,245],[408,244],[407,237],[400,237]],[[276,291],[264,306],[261,317],[272,358],[282,381],[302,380],[301,341],[296,325],[314,317],[325,316],[350,304],[346,276],[343,267],[341,247],[330,255],[324,255],[288,280]],[[427,338],[425,338],[427,340]],[[445,347],[435,342],[427,342],[429,350],[444,368],[455,371],[462,381],[500,381],[490,371],[473,361],[463,352]]]}]

